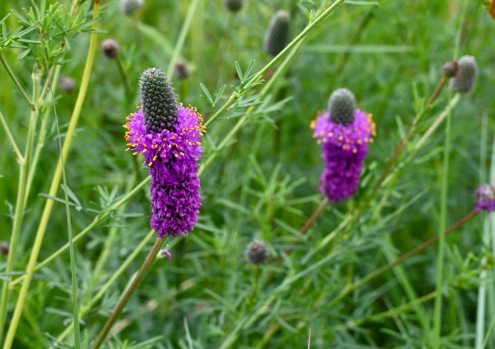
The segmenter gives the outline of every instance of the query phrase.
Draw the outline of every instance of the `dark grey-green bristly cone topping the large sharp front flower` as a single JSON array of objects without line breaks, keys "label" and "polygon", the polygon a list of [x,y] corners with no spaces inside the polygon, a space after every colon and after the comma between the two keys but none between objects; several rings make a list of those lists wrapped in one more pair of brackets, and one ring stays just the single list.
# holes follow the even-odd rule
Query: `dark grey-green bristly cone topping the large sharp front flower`
[{"label": "dark grey-green bristly cone topping the large sharp front flower", "polygon": [[177,123],[178,105],[165,73],[146,69],[139,80],[139,99],[148,132],[171,131]]}]

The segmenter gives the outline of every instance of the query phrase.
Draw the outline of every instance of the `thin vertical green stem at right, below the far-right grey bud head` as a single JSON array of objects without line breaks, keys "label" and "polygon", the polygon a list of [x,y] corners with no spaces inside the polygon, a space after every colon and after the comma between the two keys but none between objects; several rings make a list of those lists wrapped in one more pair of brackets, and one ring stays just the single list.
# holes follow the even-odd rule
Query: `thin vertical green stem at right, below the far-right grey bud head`
[{"label": "thin vertical green stem at right, below the far-right grey bud head", "polygon": [[442,325],[442,296],[443,296],[443,268],[445,254],[445,227],[447,226],[447,183],[449,178],[449,153],[450,153],[450,119],[451,113],[447,114],[445,128],[445,149],[444,164],[442,169],[442,190],[441,190],[441,209],[440,209],[440,227],[437,253],[437,279],[435,308],[433,310],[433,348],[440,348],[440,332]]}]

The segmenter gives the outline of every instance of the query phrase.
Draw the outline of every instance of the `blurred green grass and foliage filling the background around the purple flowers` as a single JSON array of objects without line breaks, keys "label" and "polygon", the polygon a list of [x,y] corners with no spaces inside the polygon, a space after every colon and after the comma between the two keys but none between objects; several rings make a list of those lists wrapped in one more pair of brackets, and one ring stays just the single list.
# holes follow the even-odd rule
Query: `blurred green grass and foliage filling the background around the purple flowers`
[{"label": "blurred green grass and foliage filling the background around the purple flowers", "polygon": [[[0,2],[3,348],[91,348],[150,251],[148,168],[125,152],[122,125],[139,104],[141,73],[158,67],[208,126],[202,207],[193,231],[166,239],[172,258],[153,263],[102,348],[495,349],[491,214],[456,227],[441,250],[431,242],[380,270],[470,214],[475,190],[495,183],[488,5],[243,2],[229,12],[223,0],[146,0],[124,14],[119,1],[102,1],[97,21],[90,0],[40,0],[36,11],[32,1]],[[291,40],[314,29],[272,61],[263,41],[280,9],[290,13]],[[108,38],[119,44],[116,58],[100,49]],[[447,84],[427,105],[443,64],[464,55],[478,63],[473,91]],[[174,72],[177,62],[186,76]],[[71,91],[62,76],[74,80]],[[341,87],[373,114],[376,137],[353,199],[325,204],[322,150],[309,125]],[[59,139],[70,142],[70,190],[52,181]],[[78,235],[73,262],[67,247],[56,252],[69,233]],[[269,248],[261,266],[246,261],[254,239]],[[33,270],[30,258],[46,263]]]}]

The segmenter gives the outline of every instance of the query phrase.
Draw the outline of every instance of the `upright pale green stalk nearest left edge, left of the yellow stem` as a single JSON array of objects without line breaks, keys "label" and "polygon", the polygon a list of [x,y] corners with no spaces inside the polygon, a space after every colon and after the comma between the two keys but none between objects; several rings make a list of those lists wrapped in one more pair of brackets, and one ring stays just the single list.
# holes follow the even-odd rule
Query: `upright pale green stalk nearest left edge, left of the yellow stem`
[{"label": "upright pale green stalk nearest left edge, left of the yellow stem", "polygon": [[[37,96],[39,93],[39,82],[40,74],[37,67],[34,67],[32,73],[32,83],[33,97]],[[14,264],[17,255],[17,245],[19,243],[20,230],[22,226],[22,220],[24,218],[24,210],[26,199],[25,196],[28,194],[26,191],[26,179],[29,169],[31,167],[31,153],[34,145],[34,135],[36,133],[36,121],[38,117],[38,107],[36,106],[34,110],[29,113],[29,126],[27,129],[27,142],[26,149],[24,151],[23,161],[19,164],[19,182],[17,186],[17,199],[15,203],[14,219],[12,224],[12,232],[10,235],[9,253],[8,253],[8,265],[5,268],[6,272],[11,272],[14,270]],[[1,289],[1,299],[0,299],[0,338],[3,334],[3,328],[5,326],[5,319],[7,316],[7,306],[10,299],[10,285],[8,282],[2,283]]]}]

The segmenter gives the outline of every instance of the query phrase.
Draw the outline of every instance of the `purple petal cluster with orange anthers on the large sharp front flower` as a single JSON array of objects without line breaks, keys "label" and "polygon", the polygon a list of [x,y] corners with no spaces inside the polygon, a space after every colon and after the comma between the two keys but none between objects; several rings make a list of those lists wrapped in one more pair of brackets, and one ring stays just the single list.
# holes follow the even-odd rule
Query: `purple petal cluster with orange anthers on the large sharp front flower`
[{"label": "purple petal cluster with orange anthers on the large sharp front flower", "polygon": [[141,109],[127,120],[128,150],[145,157],[152,176],[151,227],[161,238],[190,232],[201,206],[197,176],[204,132],[201,115],[195,108],[181,106],[174,130],[161,133],[148,133]]}]

